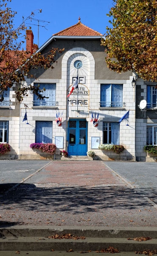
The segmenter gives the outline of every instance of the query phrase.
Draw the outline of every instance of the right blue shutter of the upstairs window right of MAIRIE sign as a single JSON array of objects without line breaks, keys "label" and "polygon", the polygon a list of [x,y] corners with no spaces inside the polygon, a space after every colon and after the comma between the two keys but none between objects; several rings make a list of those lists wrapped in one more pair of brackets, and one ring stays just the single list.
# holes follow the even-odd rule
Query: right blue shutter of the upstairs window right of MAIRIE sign
[{"label": "right blue shutter of the upstairs window right of MAIRIE sign", "polygon": [[123,107],[122,84],[112,84],[112,107]]}]

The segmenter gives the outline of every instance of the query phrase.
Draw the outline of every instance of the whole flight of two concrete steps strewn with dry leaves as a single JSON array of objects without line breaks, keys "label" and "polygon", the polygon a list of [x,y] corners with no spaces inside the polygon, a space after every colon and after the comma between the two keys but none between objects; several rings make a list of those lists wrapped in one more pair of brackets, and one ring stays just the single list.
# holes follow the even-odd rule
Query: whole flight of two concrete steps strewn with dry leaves
[{"label": "whole flight of two concrete steps strewn with dry leaves", "polygon": [[[71,234],[85,239],[52,239],[49,236]],[[147,241],[128,238],[151,237]],[[101,227],[12,227],[0,228],[0,251],[93,251],[114,247],[120,252],[157,249],[156,228]],[[6,254],[5,254],[6,255]],[[21,255],[21,254],[20,254]],[[46,255],[46,254],[45,254]],[[60,254],[59,254],[60,255]],[[118,254],[116,254],[118,255]]]}]

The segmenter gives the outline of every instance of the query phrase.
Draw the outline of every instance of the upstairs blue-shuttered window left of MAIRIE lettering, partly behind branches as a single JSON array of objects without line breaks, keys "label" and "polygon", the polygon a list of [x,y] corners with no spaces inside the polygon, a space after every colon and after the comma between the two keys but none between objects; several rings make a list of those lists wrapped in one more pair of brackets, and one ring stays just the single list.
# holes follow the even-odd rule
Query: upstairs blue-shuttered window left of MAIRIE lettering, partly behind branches
[{"label": "upstairs blue-shuttered window left of MAIRIE lettering, partly behind branches", "polygon": [[55,106],[56,105],[56,84],[34,84],[34,86],[40,86],[41,89],[44,89],[42,96],[48,97],[48,99],[38,99],[34,93],[33,105],[36,106]]}]

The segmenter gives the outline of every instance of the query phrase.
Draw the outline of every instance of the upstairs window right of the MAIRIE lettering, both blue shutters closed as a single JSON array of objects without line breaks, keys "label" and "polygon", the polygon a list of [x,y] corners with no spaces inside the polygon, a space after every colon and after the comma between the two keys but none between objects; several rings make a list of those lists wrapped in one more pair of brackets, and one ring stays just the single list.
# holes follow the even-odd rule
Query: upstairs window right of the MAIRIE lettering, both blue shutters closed
[{"label": "upstairs window right of the MAIRIE lettering, both blue shutters closed", "polygon": [[123,84],[101,84],[100,107],[123,107]]}]

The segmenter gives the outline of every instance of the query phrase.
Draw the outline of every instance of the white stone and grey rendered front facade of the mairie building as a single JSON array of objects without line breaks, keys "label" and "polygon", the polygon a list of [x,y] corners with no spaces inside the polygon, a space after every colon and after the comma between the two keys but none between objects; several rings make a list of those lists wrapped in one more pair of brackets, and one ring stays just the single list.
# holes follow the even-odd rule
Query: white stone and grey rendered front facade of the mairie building
[{"label": "white stone and grey rendered front facade of the mairie building", "polygon": [[[133,88],[134,73],[117,74],[110,71],[106,66],[106,55],[104,47],[101,46],[101,37],[101,34],[79,37],[77,35],[56,34],[39,49],[45,53],[52,47],[64,48],[64,52],[57,55],[57,64],[53,65],[53,70],[32,70],[36,80],[26,79],[25,82],[26,85],[33,85],[34,83],[55,84],[55,104],[36,106],[34,105],[34,95],[31,92],[22,104],[15,104],[14,88],[10,91],[10,100],[13,104],[8,109],[0,107],[0,120],[9,121],[8,143],[11,145],[11,152],[6,154],[6,158],[60,159],[63,149],[71,152],[70,145],[76,144],[72,143],[72,140],[70,142],[70,120],[75,122],[82,120],[85,121],[86,129],[83,128],[86,136],[84,134],[85,140],[81,138],[81,142],[78,143],[80,148],[76,145],[77,153],[75,154],[73,151],[73,156],[87,155],[81,154],[80,151],[84,150],[83,144],[86,144],[86,150],[95,151],[97,159],[148,160],[146,152],[143,151],[143,147],[146,145],[146,126],[149,122],[157,123],[157,119],[155,119],[153,110],[140,111],[138,108],[140,100],[146,99],[147,83],[142,79],[137,79],[136,87]],[[74,66],[77,60],[82,62],[82,67],[78,70]],[[77,71],[78,90],[74,90],[67,98],[76,80]],[[121,107],[101,106],[101,84],[123,85],[123,104]],[[26,105],[28,108],[25,109]],[[28,121],[23,122],[25,111],[27,111]],[[124,119],[119,125],[119,144],[123,145],[125,150],[120,154],[115,154],[113,151],[104,152],[98,149],[98,144],[103,144],[104,140],[103,124],[118,124],[118,121],[127,111],[129,111],[129,119]],[[56,123],[56,113],[62,115],[61,126]],[[92,114],[99,115],[98,126],[96,127],[91,122]],[[57,145],[56,153],[53,156],[41,154],[41,152],[30,148],[31,143],[38,142],[36,141],[36,125],[39,121],[51,122],[52,124],[52,143]],[[76,129],[75,132],[79,136],[78,133],[81,133],[81,128],[78,127],[78,131]]]}]

